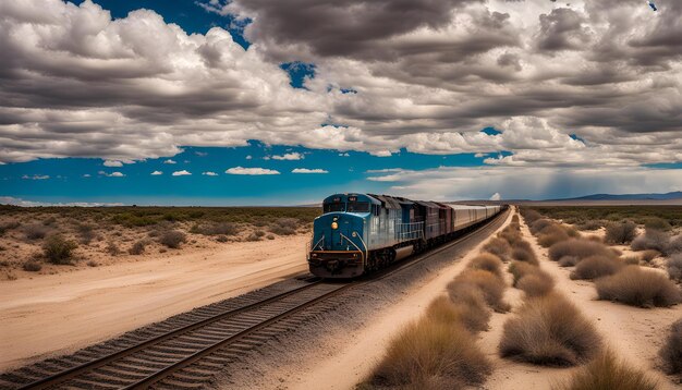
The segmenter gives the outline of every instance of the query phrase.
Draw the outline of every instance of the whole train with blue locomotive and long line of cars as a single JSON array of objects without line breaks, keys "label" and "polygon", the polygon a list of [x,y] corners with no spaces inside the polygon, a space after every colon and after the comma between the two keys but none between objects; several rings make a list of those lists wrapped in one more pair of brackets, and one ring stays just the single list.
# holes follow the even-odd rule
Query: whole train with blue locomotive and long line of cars
[{"label": "whole train with blue locomotive and long line of cars", "polygon": [[442,244],[504,210],[376,194],[333,194],[313,223],[310,273],[351,279]]}]

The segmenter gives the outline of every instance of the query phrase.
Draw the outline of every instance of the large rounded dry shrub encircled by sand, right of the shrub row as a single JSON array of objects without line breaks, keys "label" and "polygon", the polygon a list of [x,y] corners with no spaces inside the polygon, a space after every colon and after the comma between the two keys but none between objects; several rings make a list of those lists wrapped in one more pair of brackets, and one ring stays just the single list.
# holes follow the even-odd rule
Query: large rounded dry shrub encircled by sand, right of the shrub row
[{"label": "large rounded dry shrub encircled by sand, right of the shrub row", "polygon": [[504,324],[499,351],[521,362],[572,366],[588,361],[600,345],[594,325],[577,307],[550,293],[527,298]]}]

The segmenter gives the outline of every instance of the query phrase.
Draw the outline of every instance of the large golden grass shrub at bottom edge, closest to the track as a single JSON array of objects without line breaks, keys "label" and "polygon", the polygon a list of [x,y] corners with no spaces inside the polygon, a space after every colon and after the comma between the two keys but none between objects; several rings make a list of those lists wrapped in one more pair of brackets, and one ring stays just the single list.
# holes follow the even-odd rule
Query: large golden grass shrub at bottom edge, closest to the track
[{"label": "large golden grass shrub at bottom edge, closest to the track", "polygon": [[392,340],[369,382],[411,389],[479,385],[491,368],[475,340],[456,322],[425,317],[405,327]]}]

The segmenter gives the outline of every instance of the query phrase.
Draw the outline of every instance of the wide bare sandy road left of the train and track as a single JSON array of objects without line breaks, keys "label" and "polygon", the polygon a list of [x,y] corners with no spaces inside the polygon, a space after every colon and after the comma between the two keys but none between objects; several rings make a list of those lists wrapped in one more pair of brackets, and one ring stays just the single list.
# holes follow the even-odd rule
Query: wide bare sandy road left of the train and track
[{"label": "wide bare sandy road left of the train and track", "polygon": [[0,283],[0,370],[76,351],[306,271],[307,235],[169,251]]}]

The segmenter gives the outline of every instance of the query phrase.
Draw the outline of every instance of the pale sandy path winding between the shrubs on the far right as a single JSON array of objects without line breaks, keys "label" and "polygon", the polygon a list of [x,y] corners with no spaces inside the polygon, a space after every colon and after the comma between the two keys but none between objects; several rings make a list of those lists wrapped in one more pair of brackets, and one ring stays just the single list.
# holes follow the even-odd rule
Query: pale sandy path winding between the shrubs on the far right
[{"label": "pale sandy path winding between the shrubs on the far right", "polygon": [[[562,292],[583,313],[594,319],[597,330],[606,343],[631,365],[646,370],[659,380],[661,389],[679,389],[669,377],[656,369],[657,353],[670,325],[682,317],[682,305],[672,308],[637,308],[611,302],[596,301],[594,283],[574,281],[569,278],[571,268],[561,268],[547,257],[547,249],[537,242],[525,224],[522,224],[524,239],[532,243],[544,270],[557,281],[556,289]],[[623,248],[624,249],[624,248]],[[512,293],[514,289],[510,289]],[[511,303],[516,303],[510,300]],[[543,368],[514,363],[497,356],[497,345],[501,327],[507,318],[496,314],[491,319],[491,330],[484,333],[483,345],[495,362],[495,370],[488,378],[486,389],[531,389],[549,388],[559,380],[569,378],[576,368]]]}]

